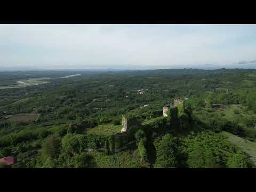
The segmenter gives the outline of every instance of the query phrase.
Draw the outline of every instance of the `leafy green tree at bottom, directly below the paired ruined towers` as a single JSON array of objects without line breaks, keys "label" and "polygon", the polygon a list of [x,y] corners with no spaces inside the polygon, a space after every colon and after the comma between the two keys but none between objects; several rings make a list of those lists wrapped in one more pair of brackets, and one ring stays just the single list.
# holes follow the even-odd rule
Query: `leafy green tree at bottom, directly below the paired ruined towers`
[{"label": "leafy green tree at bottom, directly below the paired ruined towers", "polygon": [[178,138],[165,134],[162,140],[154,143],[156,148],[155,167],[178,167],[179,151]]}]

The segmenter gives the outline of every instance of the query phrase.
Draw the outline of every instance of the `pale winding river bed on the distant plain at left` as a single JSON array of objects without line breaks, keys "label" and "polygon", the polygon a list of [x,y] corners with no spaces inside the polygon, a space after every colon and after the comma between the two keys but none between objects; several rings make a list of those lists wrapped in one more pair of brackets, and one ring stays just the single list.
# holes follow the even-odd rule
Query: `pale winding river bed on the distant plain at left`
[{"label": "pale winding river bed on the distant plain at left", "polygon": [[49,81],[45,81],[47,79],[70,78],[78,75],[81,75],[81,74],[68,75],[65,77],[32,78],[32,79],[17,81],[17,85],[0,86],[0,89],[11,89],[11,88],[21,88],[26,86],[42,85],[45,83],[50,83]]}]

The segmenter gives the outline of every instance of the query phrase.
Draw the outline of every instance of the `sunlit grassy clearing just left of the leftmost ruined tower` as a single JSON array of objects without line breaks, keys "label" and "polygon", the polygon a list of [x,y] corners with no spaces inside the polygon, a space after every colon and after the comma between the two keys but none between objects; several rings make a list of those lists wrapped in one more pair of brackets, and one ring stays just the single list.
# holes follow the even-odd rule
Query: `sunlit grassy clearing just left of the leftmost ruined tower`
[{"label": "sunlit grassy clearing just left of the leftmost ruined tower", "polygon": [[107,135],[114,135],[116,133],[120,133],[121,129],[122,129],[121,125],[103,124],[103,125],[98,125],[97,127],[94,127],[88,130],[87,132],[107,136]]}]

